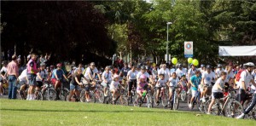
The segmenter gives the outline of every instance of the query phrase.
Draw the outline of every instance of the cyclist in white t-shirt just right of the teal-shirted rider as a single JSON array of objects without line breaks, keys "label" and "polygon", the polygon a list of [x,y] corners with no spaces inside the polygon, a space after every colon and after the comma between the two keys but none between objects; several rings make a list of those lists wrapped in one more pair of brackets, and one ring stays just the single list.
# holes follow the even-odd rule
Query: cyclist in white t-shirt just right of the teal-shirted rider
[{"label": "cyclist in white t-shirt just right of the teal-shirted rider", "polygon": [[201,79],[201,99],[206,102],[206,94],[212,93],[212,83],[216,79],[216,75],[212,72],[211,66],[207,65],[207,71],[202,73]]}]

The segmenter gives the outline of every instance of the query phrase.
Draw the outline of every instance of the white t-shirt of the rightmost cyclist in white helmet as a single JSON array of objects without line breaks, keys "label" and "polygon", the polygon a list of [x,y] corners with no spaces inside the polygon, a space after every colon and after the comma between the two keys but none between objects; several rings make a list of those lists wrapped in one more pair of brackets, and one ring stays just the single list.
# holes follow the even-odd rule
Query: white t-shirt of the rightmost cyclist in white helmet
[{"label": "white t-shirt of the rightmost cyclist in white helmet", "polygon": [[247,89],[249,84],[250,84],[250,81],[253,79],[252,74],[250,72],[243,71],[243,72],[241,72],[240,77],[241,78],[240,78],[239,83],[238,83],[239,89],[242,89],[242,87],[241,87],[241,82],[242,81],[244,81],[245,86],[246,86],[245,88]]}]

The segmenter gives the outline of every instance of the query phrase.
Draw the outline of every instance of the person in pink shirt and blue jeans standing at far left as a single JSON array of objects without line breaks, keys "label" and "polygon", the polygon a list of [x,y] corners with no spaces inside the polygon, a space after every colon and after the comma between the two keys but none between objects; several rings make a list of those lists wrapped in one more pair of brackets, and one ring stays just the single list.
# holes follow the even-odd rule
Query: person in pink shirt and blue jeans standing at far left
[{"label": "person in pink shirt and blue jeans standing at far left", "polygon": [[16,99],[16,84],[19,77],[19,70],[17,64],[17,56],[12,56],[12,61],[7,66],[7,74],[9,75],[9,99]]}]

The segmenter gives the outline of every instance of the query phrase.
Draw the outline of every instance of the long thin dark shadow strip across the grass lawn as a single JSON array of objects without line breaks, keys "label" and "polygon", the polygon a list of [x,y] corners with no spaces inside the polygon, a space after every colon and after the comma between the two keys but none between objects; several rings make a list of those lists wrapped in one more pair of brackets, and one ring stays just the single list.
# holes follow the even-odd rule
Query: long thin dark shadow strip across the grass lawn
[{"label": "long thin dark shadow strip across the grass lawn", "polygon": [[191,113],[191,112],[154,112],[154,111],[104,111],[104,110],[38,110],[38,109],[8,109],[8,108],[2,108],[1,111],[16,111],[16,112],[113,112],[113,113],[119,113],[119,112],[135,112],[135,113],[177,113],[177,114],[184,114],[184,113]]}]

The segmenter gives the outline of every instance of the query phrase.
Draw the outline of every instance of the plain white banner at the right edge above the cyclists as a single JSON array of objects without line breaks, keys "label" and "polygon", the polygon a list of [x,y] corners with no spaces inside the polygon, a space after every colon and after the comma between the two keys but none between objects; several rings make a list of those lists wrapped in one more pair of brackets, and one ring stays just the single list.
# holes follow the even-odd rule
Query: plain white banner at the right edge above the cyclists
[{"label": "plain white banner at the right edge above the cyclists", "polygon": [[256,46],[219,46],[219,56],[252,56],[256,55]]}]

